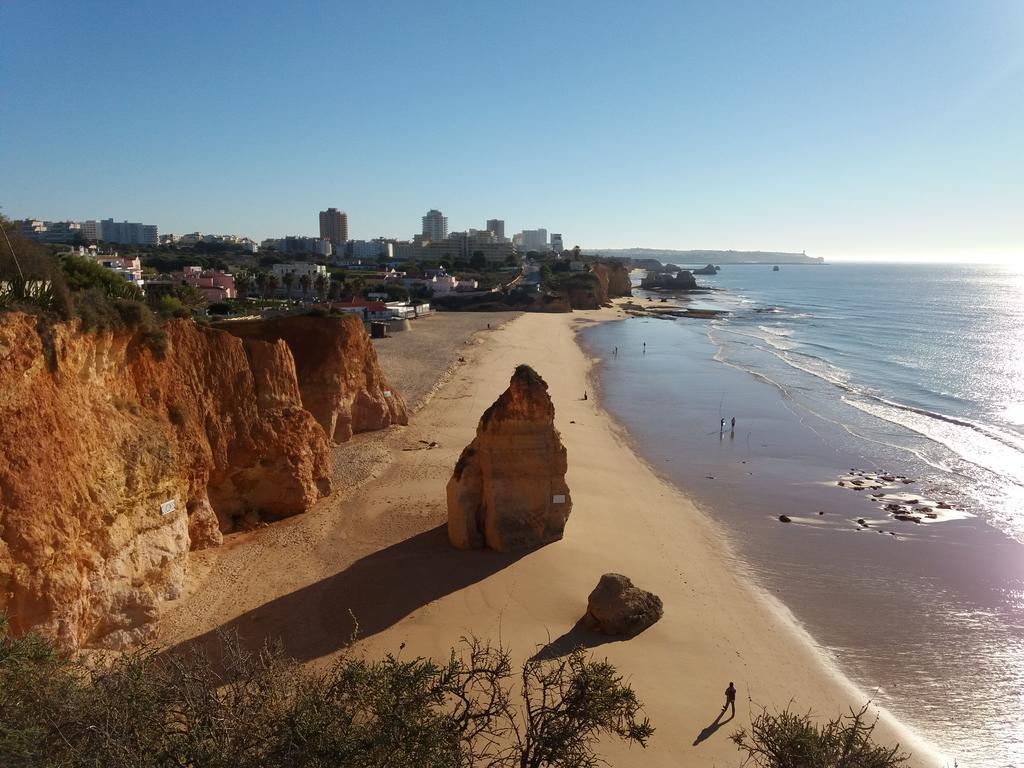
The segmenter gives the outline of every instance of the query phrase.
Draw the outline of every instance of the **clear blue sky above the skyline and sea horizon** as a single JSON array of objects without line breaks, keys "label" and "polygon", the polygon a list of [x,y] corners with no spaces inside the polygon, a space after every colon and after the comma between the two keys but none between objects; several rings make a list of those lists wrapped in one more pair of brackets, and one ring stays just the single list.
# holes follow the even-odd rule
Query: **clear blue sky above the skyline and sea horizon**
[{"label": "clear blue sky above the skyline and sea horizon", "polygon": [[1024,259],[1024,0],[0,2],[0,206]]}]

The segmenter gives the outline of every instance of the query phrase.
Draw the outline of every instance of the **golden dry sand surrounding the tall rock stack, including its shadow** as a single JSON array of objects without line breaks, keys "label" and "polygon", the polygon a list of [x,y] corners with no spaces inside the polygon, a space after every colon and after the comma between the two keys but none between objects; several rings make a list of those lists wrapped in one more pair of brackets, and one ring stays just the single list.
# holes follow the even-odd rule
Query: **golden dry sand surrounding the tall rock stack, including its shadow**
[{"label": "golden dry sand surrounding the tall rock stack, including its shadow", "polygon": [[[353,471],[364,479],[355,490],[195,553],[193,584],[169,606],[163,642],[205,640],[227,627],[254,643],[280,636],[290,653],[324,663],[351,636],[349,610],[358,646],[370,654],[406,643],[403,655],[445,657],[472,633],[500,640],[522,659],[567,635],[563,642],[591,647],[628,676],[657,728],[646,751],[604,744],[616,766],[738,765],[728,736],[759,706],[792,700],[799,711],[833,716],[861,705],[867,695],[752,585],[719,529],[629,449],[596,398],[582,399],[594,386],[575,331],[617,316],[614,309],[524,314],[484,332],[409,427],[340,450],[353,457],[376,445],[375,477]],[[521,556],[453,550],[444,485],[480,414],[519,362],[548,381],[568,451],[573,510],[565,537]],[[431,441],[438,445],[426,449]],[[606,571],[658,594],[665,617],[626,641],[577,630],[587,595]],[[736,717],[709,727],[730,680],[739,691]],[[941,764],[888,713],[880,715],[883,740],[901,740],[915,765]]]}]

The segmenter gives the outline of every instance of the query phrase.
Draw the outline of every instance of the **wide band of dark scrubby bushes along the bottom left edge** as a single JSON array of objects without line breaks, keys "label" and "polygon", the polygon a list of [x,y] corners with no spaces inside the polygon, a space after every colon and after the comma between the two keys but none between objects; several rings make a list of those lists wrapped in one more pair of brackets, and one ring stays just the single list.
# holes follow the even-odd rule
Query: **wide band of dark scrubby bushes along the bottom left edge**
[{"label": "wide band of dark scrubby bushes along the bottom left edge", "polygon": [[[142,650],[88,669],[0,620],[3,766],[597,765],[597,738],[653,732],[615,669],[464,641],[449,660],[343,655],[312,672],[221,640],[218,660]],[[513,689],[517,692],[513,695]]]}]

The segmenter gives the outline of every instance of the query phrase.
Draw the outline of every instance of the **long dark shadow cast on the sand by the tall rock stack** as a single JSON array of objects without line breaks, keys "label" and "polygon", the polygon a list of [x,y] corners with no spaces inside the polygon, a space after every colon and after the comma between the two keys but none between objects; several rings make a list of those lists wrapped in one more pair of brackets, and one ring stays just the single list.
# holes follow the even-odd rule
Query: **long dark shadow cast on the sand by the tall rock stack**
[{"label": "long dark shadow cast on the sand by the tall rock stack", "polygon": [[227,632],[237,633],[249,649],[261,647],[264,640],[280,640],[289,656],[308,662],[348,645],[356,630],[359,639],[376,635],[530,551],[457,550],[442,524],[367,555],[345,570],[270,600],[168,652],[200,648],[217,658],[218,634]]}]

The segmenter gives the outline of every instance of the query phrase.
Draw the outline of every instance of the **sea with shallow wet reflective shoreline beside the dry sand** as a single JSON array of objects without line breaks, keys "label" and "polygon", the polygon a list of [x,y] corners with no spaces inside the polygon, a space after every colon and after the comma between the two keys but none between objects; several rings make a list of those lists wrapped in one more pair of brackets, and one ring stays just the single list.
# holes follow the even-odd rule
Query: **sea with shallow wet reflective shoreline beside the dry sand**
[{"label": "sea with shallow wet reflective shoreline beside the dry sand", "polygon": [[[1024,766],[1024,270],[698,282],[716,290],[690,305],[727,315],[585,333],[607,408],[868,695],[950,765]],[[862,490],[851,470],[912,482]]]}]

